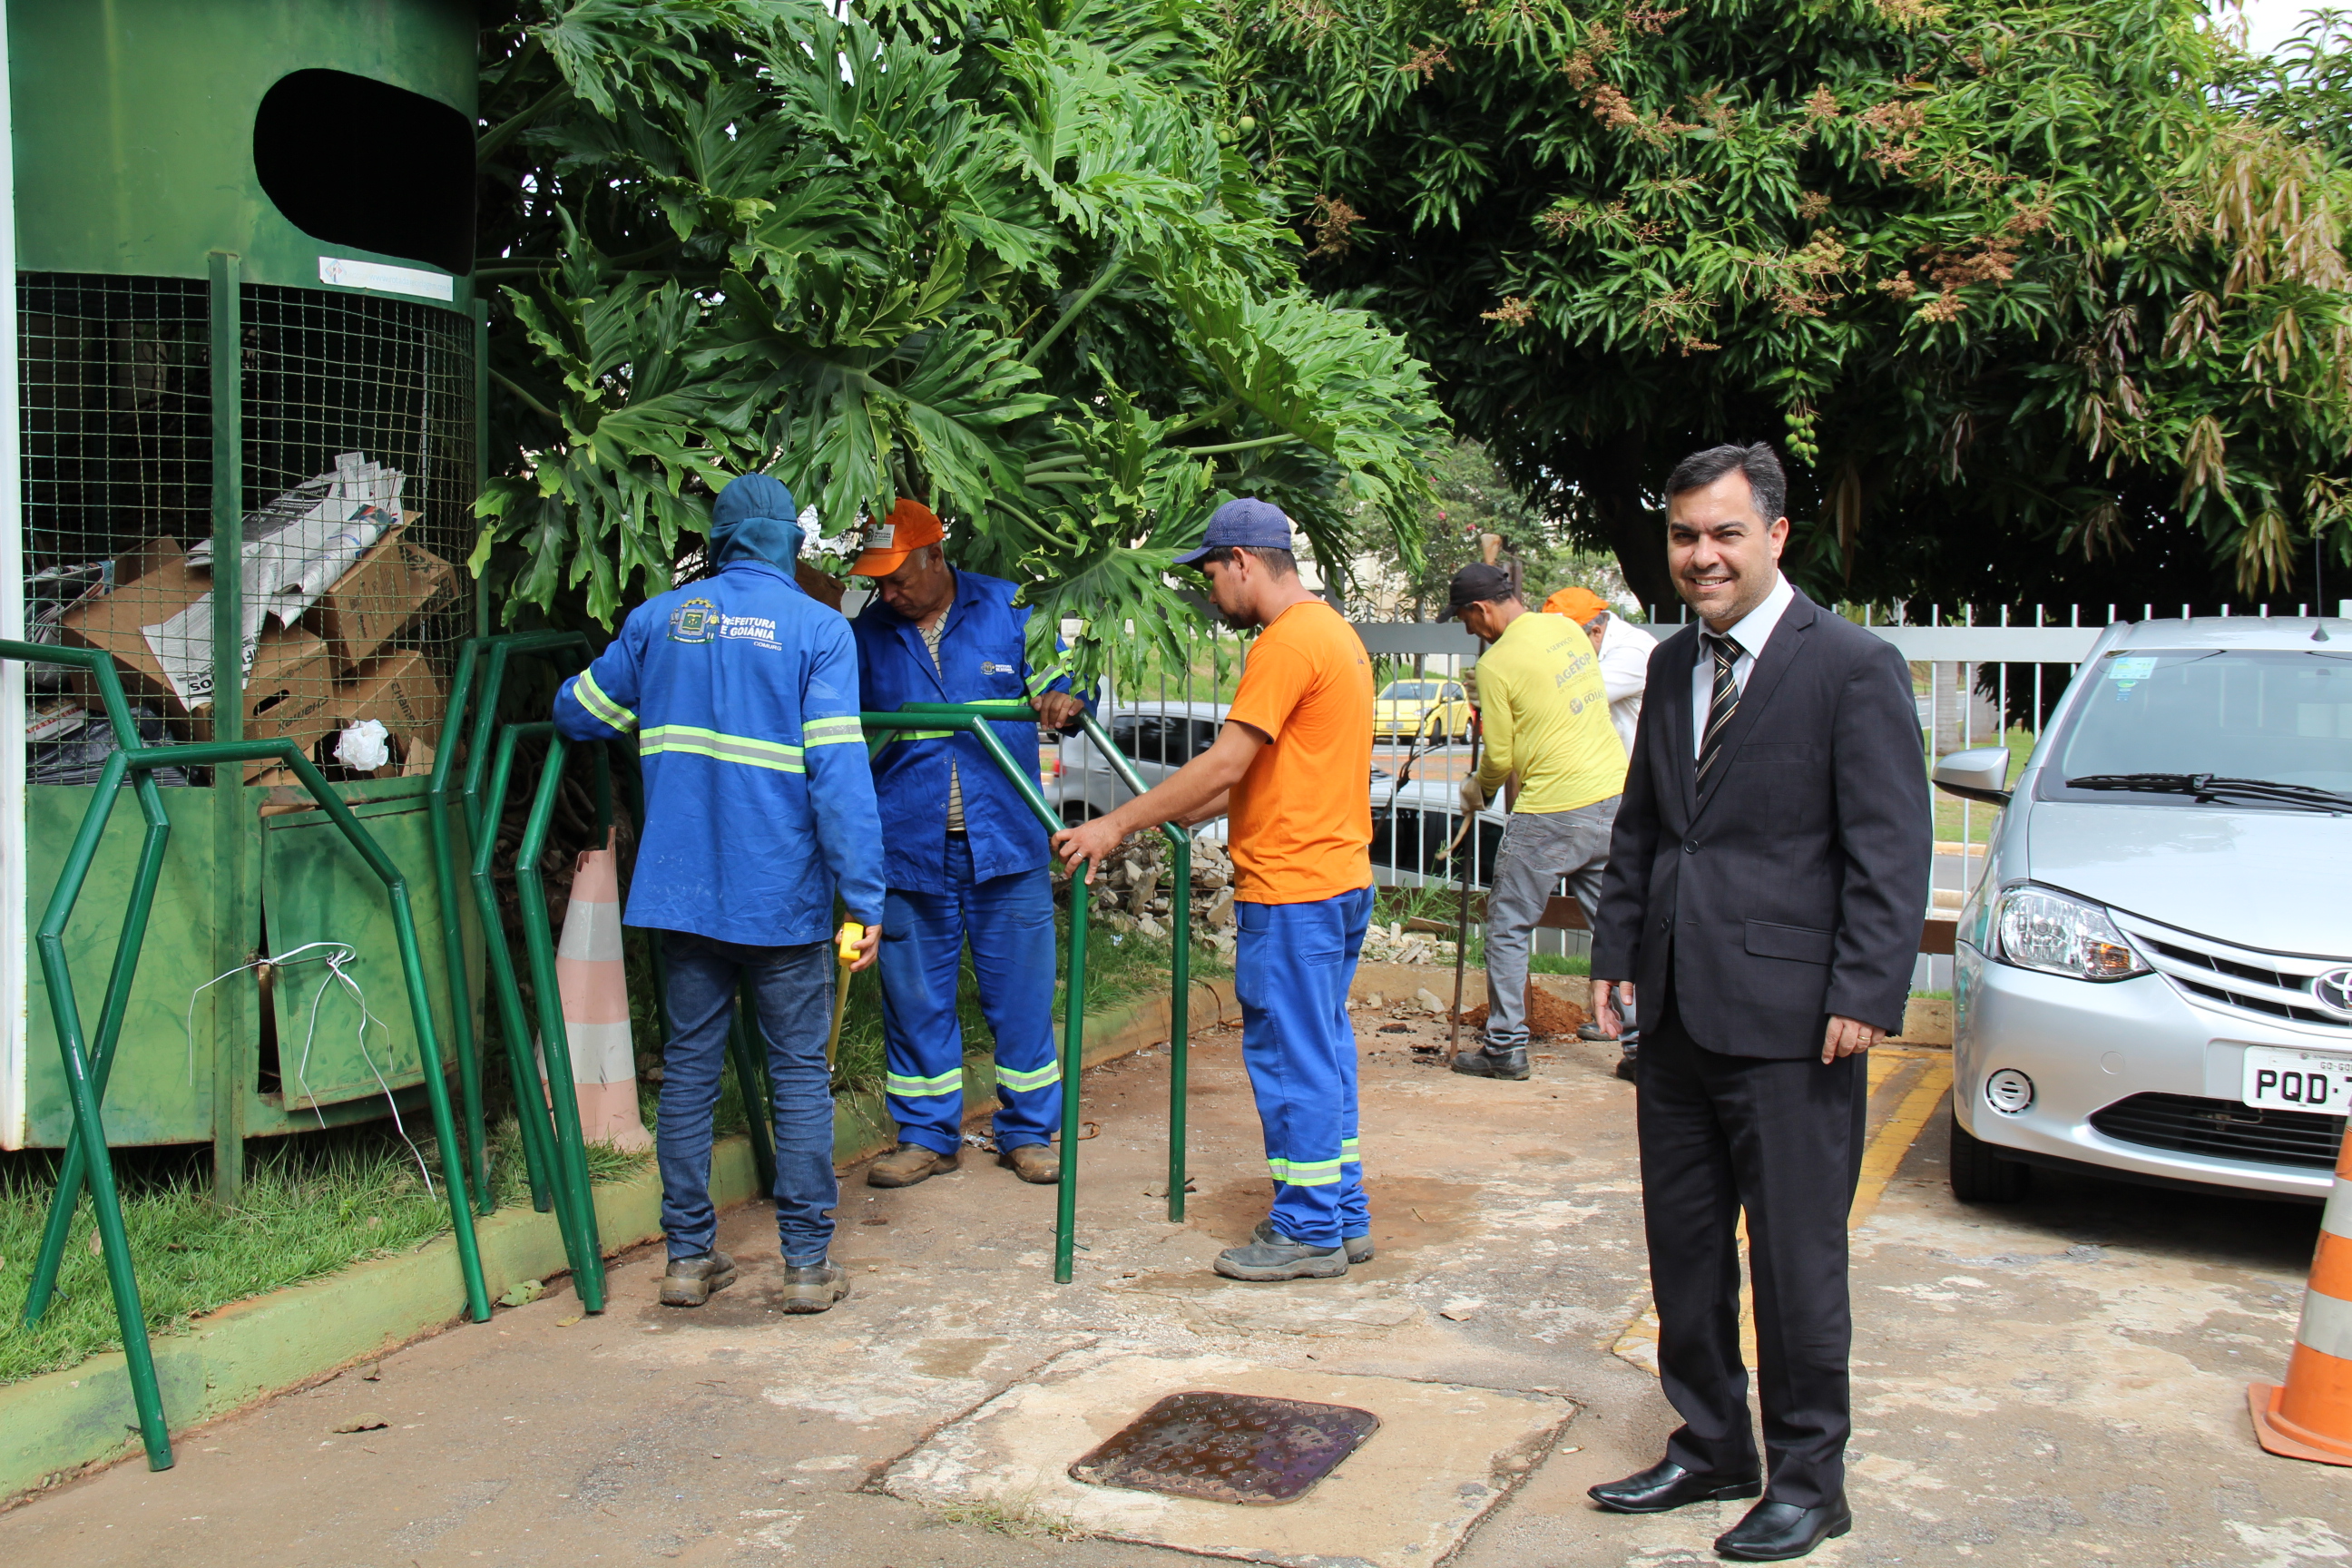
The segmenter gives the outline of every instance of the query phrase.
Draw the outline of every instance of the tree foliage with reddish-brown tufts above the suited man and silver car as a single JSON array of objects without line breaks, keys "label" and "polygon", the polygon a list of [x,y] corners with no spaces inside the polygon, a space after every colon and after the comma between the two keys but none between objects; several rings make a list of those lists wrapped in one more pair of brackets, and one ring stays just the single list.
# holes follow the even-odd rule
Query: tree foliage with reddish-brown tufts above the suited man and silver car
[{"label": "tree foliage with reddish-brown tufts above the suited man and silver car", "polygon": [[2201,0],[1225,14],[1310,280],[1644,599],[1661,480],[1722,440],[1792,458],[1842,597],[2211,607],[2352,562],[2352,188]]}]

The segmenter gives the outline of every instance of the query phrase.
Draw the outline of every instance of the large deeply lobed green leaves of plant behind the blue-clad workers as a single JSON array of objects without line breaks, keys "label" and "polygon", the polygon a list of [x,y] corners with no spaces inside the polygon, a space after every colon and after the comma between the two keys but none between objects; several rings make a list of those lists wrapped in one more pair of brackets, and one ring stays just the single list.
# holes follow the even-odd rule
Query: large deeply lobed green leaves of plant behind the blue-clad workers
[{"label": "large deeply lobed green leaves of plant behind the blue-clad workers", "polygon": [[[894,496],[1063,616],[1171,637],[1235,494],[1324,562],[1411,541],[1421,367],[1296,280],[1183,0],[536,0],[485,33],[508,618],[612,623],[767,470],[844,538]],[[837,559],[837,557],[835,557]],[[1103,658],[1091,637],[1084,663]]]}]

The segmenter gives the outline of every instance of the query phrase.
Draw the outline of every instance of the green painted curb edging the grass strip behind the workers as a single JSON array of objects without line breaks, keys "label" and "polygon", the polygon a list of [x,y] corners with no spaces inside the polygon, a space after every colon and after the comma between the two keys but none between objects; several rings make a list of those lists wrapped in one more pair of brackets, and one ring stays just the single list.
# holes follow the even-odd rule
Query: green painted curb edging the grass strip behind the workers
[{"label": "green painted curb edging the grass strip behind the workers", "polygon": [[[1232,983],[1195,985],[1197,1025],[1240,1018]],[[1141,1051],[1169,1032],[1169,1001],[1145,1001],[1087,1020],[1096,1039],[1087,1065]],[[995,1067],[964,1067],[964,1119],[995,1112]],[[833,1159],[851,1166],[896,1143],[880,1093],[840,1095],[833,1112]],[[710,1201],[717,1208],[760,1194],[750,1143],[722,1138],[710,1154]],[[595,1190],[597,1234],[607,1253],[661,1237],[661,1171],[647,1166]],[[477,1225],[482,1276],[496,1298],[524,1279],[564,1272],[564,1241],[553,1213],[508,1208]],[[155,1338],[155,1378],[172,1432],[179,1434],[332,1373],[381,1356],[409,1340],[459,1326],[463,1293],[456,1241],[440,1237],[397,1258],[376,1258],[303,1286],[230,1302],[191,1333]],[[0,1385],[0,1505],[92,1465],[139,1450],[122,1352],[89,1356],[61,1373]]]}]

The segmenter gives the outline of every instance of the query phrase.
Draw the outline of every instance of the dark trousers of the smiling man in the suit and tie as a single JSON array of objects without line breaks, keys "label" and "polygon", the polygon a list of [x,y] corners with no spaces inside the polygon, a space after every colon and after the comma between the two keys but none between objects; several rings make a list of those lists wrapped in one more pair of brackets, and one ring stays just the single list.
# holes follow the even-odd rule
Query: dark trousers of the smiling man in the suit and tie
[{"label": "dark trousers of the smiling man in the suit and tie", "polygon": [[1658,1375],[1682,1429],[1665,1458],[1757,1474],[1740,1361],[1738,1215],[1757,1300],[1764,1495],[1818,1507],[1846,1481],[1846,1211],[1863,1161],[1867,1056],[1724,1056],[1672,1006],[1642,1032],[1642,1208]]}]

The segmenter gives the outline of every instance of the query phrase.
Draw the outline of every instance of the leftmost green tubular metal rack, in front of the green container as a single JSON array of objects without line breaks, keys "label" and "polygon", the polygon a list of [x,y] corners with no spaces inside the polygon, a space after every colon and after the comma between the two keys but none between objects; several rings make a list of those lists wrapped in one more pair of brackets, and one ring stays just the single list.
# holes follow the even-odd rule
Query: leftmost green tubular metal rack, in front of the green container
[{"label": "leftmost green tubular metal rack, in front of the green container", "polygon": [[[162,799],[155,792],[153,769],[160,766],[238,766],[245,762],[275,762],[294,771],[318,809],[341,830],[343,839],[360,853],[367,870],[383,882],[393,907],[393,931],[400,943],[400,969],[407,980],[409,1016],[416,1023],[419,1070],[426,1095],[433,1105],[433,1135],[445,1150],[442,1182],[449,1192],[449,1222],[456,1229],[459,1274],[466,1286],[466,1312],[475,1321],[489,1319],[489,1291],[482,1284],[482,1255],[473,1234],[473,1201],[466,1194],[466,1159],[456,1135],[456,1117],[449,1107],[449,1084],[437,1072],[440,1044],[433,1034],[433,1006],[426,997],[423,959],[416,947],[416,919],[409,910],[409,884],[397,865],[383,853],[376,839],[350,813],[350,806],[327,785],[327,778],[310,764],[292,741],[214,741],[205,745],[139,745],[139,733],[129,722],[129,703],[122,698],[122,682],[113,663],[87,649],[56,649],[31,642],[0,642],[0,661],[52,663],[82,670],[99,686],[106,703],[108,726],[115,731],[120,750],[108,755],[99,773],[96,795],[82,813],[82,825],[73,837],[66,867],[49,893],[47,912],[35,931],[42,978],[49,990],[49,1013],[56,1023],[56,1048],[64,1058],[66,1088],[73,1098],[73,1140],[59,1168],[56,1197],[49,1204],[49,1222],[42,1232],[42,1248],[33,1265],[33,1281],[26,1291],[24,1321],[33,1326],[47,1312],[56,1293],[56,1269],[64,1262],[66,1232],[73,1211],[80,1206],[82,1185],[89,1185],[89,1201],[96,1211],[99,1244],[106,1258],[106,1284],[115,1300],[115,1321],[122,1331],[122,1356],[132,1385],[132,1403],[139,1410],[139,1436],[146,1443],[148,1467],[172,1467],[172,1432],[162,1413],[162,1392],[155,1385],[155,1354],[146,1335],[146,1312],[139,1305],[139,1276],[132,1267],[129,1237],[122,1229],[122,1199],[115,1190],[113,1154],[106,1147],[106,1079],[113,1070],[115,1044],[122,1032],[122,1011],[129,1001],[132,978],[139,969],[139,947],[146,940],[148,912],[155,900],[155,882],[162,870],[162,853],[172,835]],[[106,983],[106,1001],[99,1011],[96,1048],[82,1044],[82,1016],[73,994],[73,971],[66,959],[64,931],[73,917],[73,905],[89,877],[99,839],[115,811],[115,797],[125,778],[139,776],[139,809],[146,820],[146,842],[139,851],[139,875],[132,903],[122,914],[122,938],[115,945],[115,961]]]}]

